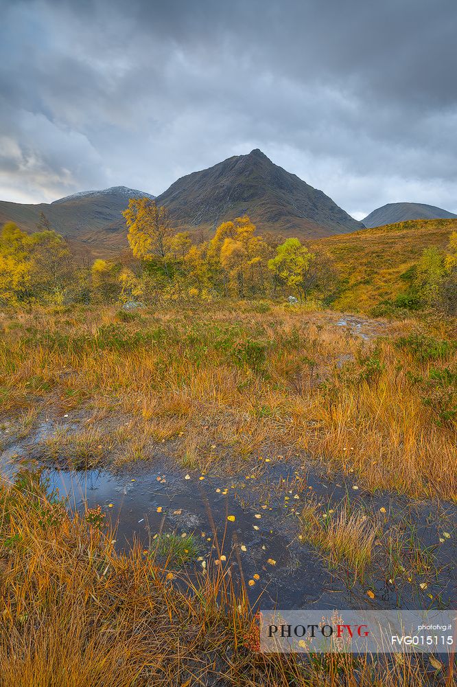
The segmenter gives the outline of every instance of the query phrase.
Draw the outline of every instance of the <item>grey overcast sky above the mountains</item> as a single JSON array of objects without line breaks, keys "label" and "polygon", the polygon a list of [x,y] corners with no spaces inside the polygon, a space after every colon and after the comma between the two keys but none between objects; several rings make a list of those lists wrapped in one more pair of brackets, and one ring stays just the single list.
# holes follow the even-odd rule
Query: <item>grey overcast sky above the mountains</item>
[{"label": "grey overcast sky above the mountains", "polygon": [[260,148],[356,218],[457,212],[456,0],[0,0],[0,199]]}]

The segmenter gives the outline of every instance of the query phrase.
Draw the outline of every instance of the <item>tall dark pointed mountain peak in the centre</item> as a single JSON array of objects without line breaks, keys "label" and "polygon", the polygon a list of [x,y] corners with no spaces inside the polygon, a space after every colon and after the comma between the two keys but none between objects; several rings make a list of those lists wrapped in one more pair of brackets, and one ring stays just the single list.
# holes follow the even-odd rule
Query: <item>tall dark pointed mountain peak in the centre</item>
[{"label": "tall dark pointed mountain peak in the centre", "polygon": [[362,229],[329,196],[252,150],[201,172],[187,174],[156,199],[166,205],[176,229],[213,232],[222,221],[243,214],[259,230],[301,238]]}]

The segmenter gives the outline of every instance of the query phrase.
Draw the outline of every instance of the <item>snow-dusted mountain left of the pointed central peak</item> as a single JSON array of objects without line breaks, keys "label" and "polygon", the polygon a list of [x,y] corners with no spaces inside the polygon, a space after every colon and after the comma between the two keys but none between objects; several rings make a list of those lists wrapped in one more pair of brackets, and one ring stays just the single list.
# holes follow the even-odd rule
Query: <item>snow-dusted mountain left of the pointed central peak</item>
[{"label": "snow-dusted mountain left of the pointed central peak", "polygon": [[126,223],[121,212],[129,198],[154,199],[126,186],[113,186],[101,191],[82,191],[60,198],[54,203],[10,203],[0,201],[0,225],[16,222],[27,232],[36,231],[40,212],[49,219],[56,232],[75,240],[79,245],[118,248],[126,245]]}]

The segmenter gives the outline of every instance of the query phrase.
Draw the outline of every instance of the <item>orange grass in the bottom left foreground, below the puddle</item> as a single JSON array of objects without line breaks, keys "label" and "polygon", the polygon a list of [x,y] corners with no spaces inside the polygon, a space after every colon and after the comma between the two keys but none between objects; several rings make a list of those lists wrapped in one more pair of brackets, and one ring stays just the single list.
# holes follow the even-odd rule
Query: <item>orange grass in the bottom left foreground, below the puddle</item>
[{"label": "orange grass in the bottom left foreground, below the puddle", "polygon": [[436,666],[412,655],[257,653],[255,618],[227,568],[176,585],[154,556],[116,552],[103,519],[89,521],[67,515],[35,473],[0,486],[2,687],[430,684]]}]

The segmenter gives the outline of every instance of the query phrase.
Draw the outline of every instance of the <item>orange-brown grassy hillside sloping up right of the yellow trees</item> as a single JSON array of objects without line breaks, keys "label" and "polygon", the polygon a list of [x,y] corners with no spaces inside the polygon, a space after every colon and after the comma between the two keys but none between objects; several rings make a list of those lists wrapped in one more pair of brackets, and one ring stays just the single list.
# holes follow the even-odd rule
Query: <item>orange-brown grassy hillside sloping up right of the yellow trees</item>
[{"label": "orange-brown grassy hillside sloping up right of the yellow trees", "polygon": [[334,306],[367,312],[405,289],[400,276],[424,248],[445,248],[457,231],[456,219],[413,220],[309,242],[328,253],[343,280]]}]

